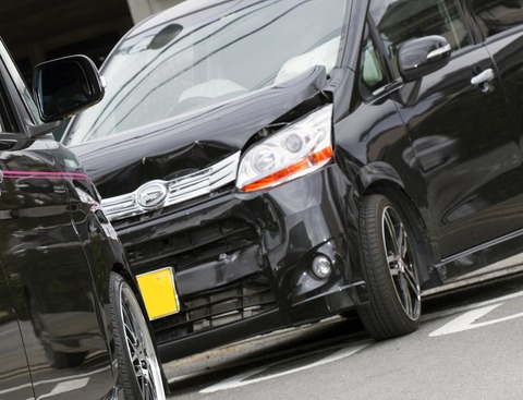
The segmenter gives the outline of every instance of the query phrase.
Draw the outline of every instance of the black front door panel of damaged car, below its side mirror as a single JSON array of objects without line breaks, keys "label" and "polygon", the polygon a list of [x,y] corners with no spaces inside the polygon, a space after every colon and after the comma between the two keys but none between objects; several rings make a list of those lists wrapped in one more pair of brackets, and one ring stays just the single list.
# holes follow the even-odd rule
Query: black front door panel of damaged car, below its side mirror
[{"label": "black front door panel of damaged car, below its side mirror", "polygon": [[[411,129],[442,257],[507,234],[523,222],[518,211],[523,187],[514,180],[523,172],[522,154],[513,117],[499,81],[491,83],[489,93],[470,84],[474,68],[494,68],[482,45],[454,56],[440,71],[448,76],[449,92],[427,77],[415,108],[400,111]],[[452,120],[450,112],[455,112]],[[500,159],[506,161],[500,165]]]}]

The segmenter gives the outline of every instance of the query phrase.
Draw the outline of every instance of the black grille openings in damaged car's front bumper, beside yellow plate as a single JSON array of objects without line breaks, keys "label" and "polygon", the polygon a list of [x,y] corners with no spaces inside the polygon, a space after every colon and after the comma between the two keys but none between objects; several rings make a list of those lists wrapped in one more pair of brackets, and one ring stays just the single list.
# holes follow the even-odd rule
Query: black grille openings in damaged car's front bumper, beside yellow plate
[{"label": "black grille openings in damaged car's front bumper, beside yellow plate", "polygon": [[[173,267],[178,274],[217,263],[222,256],[242,254],[259,245],[255,228],[240,218],[223,218],[171,235],[127,243],[126,252],[136,274]],[[245,258],[247,259],[247,258]],[[256,258],[250,258],[256,263]],[[181,296],[178,314],[151,322],[158,342],[246,319],[277,307],[269,280],[262,267],[220,288]],[[194,275],[197,279],[197,275]]]}]

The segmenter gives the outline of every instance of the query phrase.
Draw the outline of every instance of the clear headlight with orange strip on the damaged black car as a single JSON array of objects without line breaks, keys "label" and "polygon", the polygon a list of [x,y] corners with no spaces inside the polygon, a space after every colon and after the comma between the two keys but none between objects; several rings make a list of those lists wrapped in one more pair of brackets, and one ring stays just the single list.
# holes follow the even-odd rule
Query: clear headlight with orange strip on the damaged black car
[{"label": "clear headlight with orange strip on the damaged black car", "polygon": [[236,187],[253,192],[317,170],[332,158],[332,105],[255,144],[242,158]]}]

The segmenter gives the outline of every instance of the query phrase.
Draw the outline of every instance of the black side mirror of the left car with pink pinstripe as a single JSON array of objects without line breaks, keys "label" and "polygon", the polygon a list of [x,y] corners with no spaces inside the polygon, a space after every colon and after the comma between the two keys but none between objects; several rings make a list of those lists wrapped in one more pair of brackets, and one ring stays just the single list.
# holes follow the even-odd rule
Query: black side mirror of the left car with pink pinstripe
[{"label": "black side mirror of the left car with pink pinstripe", "polygon": [[70,56],[35,66],[34,94],[45,122],[70,117],[104,97],[104,85],[93,61]]}]

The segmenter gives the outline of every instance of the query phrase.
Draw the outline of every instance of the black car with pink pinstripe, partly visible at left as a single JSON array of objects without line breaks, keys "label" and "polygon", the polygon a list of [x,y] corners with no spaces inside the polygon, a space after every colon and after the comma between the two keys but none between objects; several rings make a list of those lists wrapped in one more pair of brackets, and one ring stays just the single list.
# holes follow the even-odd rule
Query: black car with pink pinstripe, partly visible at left
[{"label": "black car with pink pinstripe, partly visible at left", "polygon": [[123,246],[51,133],[99,101],[98,72],[74,56],[35,82],[38,106],[0,41],[0,398],[165,399]]}]

